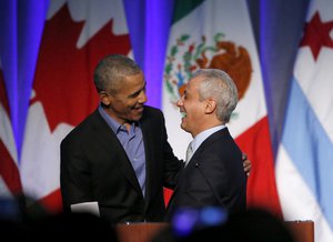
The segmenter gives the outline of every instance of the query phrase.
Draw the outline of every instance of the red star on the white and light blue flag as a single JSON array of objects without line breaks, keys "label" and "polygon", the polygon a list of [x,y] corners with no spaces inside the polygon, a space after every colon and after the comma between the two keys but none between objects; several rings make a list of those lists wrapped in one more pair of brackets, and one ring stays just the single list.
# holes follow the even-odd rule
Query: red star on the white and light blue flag
[{"label": "red star on the white and light blue flag", "polygon": [[330,37],[332,29],[333,21],[322,22],[320,13],[316,11],[311,21],[305,24],[304,36],[300,46],[309,46],[314,60],[316,60],[322,47],[333,48],[333,40]]}]

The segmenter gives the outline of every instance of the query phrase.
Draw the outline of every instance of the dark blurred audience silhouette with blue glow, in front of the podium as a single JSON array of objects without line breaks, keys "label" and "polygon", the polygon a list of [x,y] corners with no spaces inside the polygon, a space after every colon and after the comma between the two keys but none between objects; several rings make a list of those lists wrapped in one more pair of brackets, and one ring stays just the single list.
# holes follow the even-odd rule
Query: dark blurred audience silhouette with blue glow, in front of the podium
[{"label": "dark blurred audience silhouette with blue glow, in front of the podium", "polygon": [[[190,210],[188,215],[183,211],[181,215],[175,213],[179,218],[152,242],[295,242],[284,221],[265,210],[249,209],[228,216],[219,209],[209,209],[209,212],[204,211],[206,208],[196,212]],[[205,218],[208,214],[210,219]]]}]

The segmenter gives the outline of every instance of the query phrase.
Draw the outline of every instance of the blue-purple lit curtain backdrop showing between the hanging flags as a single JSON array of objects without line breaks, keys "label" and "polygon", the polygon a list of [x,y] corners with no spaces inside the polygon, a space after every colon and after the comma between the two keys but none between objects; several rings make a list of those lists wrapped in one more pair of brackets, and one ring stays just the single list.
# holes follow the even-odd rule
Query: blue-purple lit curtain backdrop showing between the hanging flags
[{"label": "blue-purple lit curtain backdrop showing between the hanging flags", "polygon": [[[174,0],[124,0],[133,54],[145,72],[149,104],[154,107],[161,107],[173,4]],[[309,0],[248,0],[260,52],[274,153],[307,6]],[[0,61],[19,155],[48,7],[49,0],[0,1]]]}]

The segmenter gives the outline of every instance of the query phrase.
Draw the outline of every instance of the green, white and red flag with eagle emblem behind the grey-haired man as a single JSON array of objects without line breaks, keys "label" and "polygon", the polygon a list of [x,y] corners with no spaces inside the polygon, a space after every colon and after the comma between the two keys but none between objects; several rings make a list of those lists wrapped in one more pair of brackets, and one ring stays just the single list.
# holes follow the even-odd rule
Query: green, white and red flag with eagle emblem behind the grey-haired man
[{"label": "green, white and red flag with eagle emblem behind the grey-haired man", "polygon": [[252,162],[248,206],[281,215],[263,80],[245,0],[175,2],[162,109],[169,141],[182,159],[192,137],[180,128],[175,102],[193,71],[200,68],[224,70],[236,83],[239,104],[228,128]]}]

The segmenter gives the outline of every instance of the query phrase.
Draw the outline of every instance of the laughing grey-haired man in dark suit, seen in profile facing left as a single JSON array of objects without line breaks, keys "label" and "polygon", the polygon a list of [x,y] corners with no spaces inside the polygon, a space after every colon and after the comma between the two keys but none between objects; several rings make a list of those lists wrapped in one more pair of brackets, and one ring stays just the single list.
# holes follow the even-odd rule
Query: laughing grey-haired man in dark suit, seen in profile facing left
[{"label": "laughing grey-haired man in dark suit, seen in profile facing left", "polygon": [[242,152],[225,127],[236,103],[236,87],[221,70],[199,70],[188,83],[176,104],[183,115],[181,128],[193,137],[192,157],[169,202],[168,220],[179,208],[245,210]]}]

